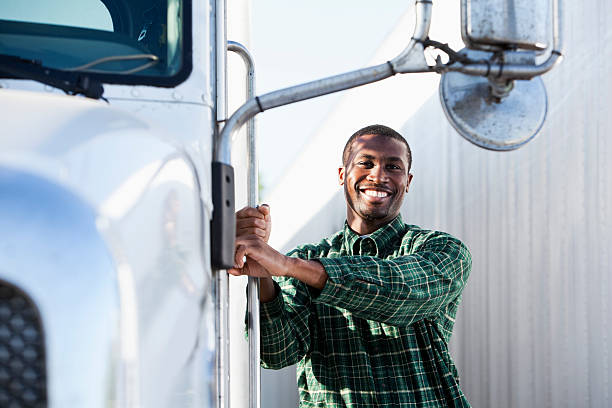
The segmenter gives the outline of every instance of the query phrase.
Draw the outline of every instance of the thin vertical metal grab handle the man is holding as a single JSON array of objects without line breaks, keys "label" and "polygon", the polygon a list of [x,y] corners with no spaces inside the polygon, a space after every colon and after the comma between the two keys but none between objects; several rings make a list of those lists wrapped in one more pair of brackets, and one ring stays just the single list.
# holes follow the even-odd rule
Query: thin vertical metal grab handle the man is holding
[{"label": "thin vertical metal grab handle the man is holding", "polygon": [[[246,47],[235,41],[227,42],[228,51],[242,57],[247,68],[246,97],[255,97],[255,68],[253,58]],[[258,202],[258,166],[255,138],[255,117],[247,121],[247,160],[248,160],[248,205],[255,207]],[[249,333],[249,408],[259,408],[261,403],[261,369],[259,367],[259,279],[249,277],[247,286],[247,316]]]}]

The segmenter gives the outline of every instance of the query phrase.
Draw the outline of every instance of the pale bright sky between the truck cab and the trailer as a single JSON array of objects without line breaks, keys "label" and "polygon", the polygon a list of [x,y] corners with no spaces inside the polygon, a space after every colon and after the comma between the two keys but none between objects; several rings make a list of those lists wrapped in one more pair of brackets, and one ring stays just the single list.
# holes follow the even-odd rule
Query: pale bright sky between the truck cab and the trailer
[{"label": "pale bright sky between the truck cab and the trailer", "polygon": [[[406,0],[253,0],[251,4],[258,95],[368,66],[400,17],[414,7]],[[264,198],[341,94],[257,116]]]}]

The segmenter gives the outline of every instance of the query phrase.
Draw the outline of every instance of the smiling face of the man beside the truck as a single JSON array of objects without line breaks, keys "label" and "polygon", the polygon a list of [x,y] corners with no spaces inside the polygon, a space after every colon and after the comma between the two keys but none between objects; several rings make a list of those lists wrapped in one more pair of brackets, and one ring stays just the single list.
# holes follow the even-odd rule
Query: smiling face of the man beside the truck
[{"label": "smiling face of the man beside the truck", "polygon": [[[360,136],[353,142],[345,167],[339,169],[339,177],[349,225],[357,232],[370,233],[399,214],[412,180],[406,146],[386,136]],[[368,231],[358,231],[363,230],[362,224]]]}]

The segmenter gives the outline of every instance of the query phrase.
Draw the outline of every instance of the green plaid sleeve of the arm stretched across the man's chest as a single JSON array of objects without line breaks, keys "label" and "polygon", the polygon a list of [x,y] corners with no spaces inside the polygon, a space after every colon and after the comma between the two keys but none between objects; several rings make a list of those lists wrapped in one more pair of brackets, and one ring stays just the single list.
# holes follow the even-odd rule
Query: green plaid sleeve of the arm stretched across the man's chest
[{"label": "green plaid sleeve of the arm stretched across the man's chest", "polygon": [[329,279],[313,301],[357,317],[406,326],[433,317],[460,296],[471,269],[468,249],[434,233],[404,256],[318,258]]}]

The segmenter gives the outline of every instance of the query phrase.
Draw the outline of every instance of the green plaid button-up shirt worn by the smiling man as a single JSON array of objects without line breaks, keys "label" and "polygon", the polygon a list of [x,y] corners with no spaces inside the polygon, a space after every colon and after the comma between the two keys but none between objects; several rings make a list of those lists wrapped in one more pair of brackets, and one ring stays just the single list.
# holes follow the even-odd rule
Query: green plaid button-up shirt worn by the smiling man
[{"label": "green plaid button-up shirt worn by the smiling man", "polygon": [[297,363],[300,407],[469,407],[448,352],[472,264],[459,240],[398,216],[289,255],[329,275],[321,291],[276,279],[261,304],[262,366]]}]

